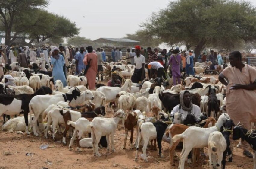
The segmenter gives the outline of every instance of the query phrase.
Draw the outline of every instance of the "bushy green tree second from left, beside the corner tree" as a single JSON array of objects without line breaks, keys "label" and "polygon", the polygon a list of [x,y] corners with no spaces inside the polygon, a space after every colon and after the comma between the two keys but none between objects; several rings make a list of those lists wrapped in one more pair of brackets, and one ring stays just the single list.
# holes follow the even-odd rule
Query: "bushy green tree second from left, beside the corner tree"
[{"label": "bushy green tree second from left, beside the corner tree", "polygon": [[24,17],[24,22],[31,25],[26,33],[30,36],[32,43],[34,40],[37,42],[44,40],[62,39],[65,37],[73,37],[79,33],[79,28],[76,27],[74,22],[69,19],[56,14],[49,13],[44,10],[35,10],[33,18],[27,21]]}]

